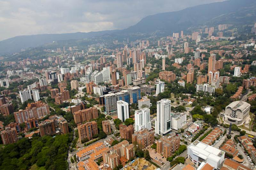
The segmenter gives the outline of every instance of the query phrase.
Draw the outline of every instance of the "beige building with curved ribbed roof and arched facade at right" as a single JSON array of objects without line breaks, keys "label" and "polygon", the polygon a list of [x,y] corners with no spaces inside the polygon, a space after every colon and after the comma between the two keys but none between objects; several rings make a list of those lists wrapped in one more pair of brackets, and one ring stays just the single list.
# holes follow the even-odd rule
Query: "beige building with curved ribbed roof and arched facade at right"
[{"label": "beige building with curved ribbed roof and arched facade at right", "polygon": [[225,122],[241,125],[249,117],[251,105],[245,101],[233,101],[225,109]]}]

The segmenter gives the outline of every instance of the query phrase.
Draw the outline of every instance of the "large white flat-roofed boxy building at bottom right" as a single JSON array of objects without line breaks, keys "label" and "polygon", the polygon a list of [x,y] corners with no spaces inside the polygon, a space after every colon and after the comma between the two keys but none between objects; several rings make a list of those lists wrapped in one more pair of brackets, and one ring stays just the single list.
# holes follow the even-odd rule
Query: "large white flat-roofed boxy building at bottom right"
[{"label": "large white flat-roofed boxy building at bottom right", "polygon": [[188,146],[188,158],[196,166],[205,162],[217,169],[224,162],[225,152],[196,140]]}]

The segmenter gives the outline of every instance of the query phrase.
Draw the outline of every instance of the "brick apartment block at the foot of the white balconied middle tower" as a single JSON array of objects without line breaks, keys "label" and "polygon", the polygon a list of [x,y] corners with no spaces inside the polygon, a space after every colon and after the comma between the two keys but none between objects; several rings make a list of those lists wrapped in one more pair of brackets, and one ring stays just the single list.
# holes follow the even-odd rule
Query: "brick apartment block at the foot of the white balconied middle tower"
[{"label": "brick apartment block at the foot of the white balconied middle tower", "polygon": [[148,129],[142,129],[132,135],[132,143],[137,142],[142,148],[151,146],[154,141],[154,131],[148,131]]}]

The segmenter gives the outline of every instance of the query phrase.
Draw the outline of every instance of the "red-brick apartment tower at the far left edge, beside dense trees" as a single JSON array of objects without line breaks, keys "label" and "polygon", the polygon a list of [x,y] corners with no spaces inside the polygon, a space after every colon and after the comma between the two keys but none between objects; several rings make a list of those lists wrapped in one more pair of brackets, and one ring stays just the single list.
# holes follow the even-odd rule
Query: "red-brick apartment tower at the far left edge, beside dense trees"
[{"label": "red-brick apartment tower at the far left edge, beside dense trees", "polygon": [[5,130],[1,131],[1,137],[3,144],[12,144],[18,141],[15,128],[6,127]]}]

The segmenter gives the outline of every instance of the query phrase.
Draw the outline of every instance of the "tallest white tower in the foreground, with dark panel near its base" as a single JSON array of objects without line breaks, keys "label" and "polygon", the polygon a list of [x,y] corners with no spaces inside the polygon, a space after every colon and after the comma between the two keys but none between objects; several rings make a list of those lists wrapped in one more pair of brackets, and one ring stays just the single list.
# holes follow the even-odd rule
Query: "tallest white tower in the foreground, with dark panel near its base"
[{"label": "tallest white tower in the foreground, with dark panel near its base", "polygon": [[163,135],[172,130],[171,100],[162,99],[156,103],[156,107],[155,133]]}]

